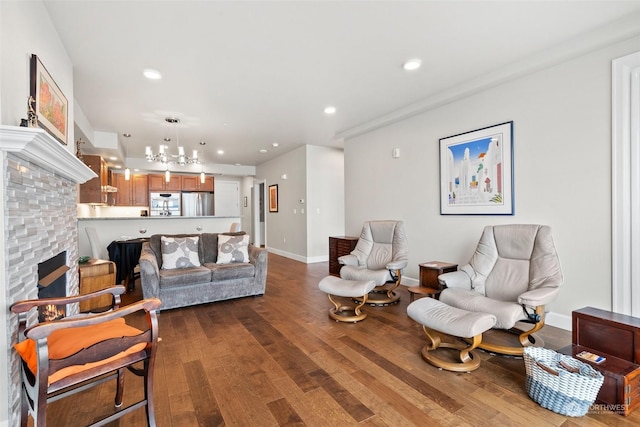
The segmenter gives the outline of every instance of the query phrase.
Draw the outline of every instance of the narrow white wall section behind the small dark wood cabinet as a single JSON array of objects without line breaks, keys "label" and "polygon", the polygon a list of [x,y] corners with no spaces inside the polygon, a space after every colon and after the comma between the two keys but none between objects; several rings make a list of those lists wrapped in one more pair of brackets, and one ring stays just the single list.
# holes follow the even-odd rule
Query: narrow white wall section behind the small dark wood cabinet
[{"label": "narrow white wall section behind the small dark wood cabinet", "polygon": [[307,257],[329,260],[329,236],[344,234],[344,152],[307,146]]}]

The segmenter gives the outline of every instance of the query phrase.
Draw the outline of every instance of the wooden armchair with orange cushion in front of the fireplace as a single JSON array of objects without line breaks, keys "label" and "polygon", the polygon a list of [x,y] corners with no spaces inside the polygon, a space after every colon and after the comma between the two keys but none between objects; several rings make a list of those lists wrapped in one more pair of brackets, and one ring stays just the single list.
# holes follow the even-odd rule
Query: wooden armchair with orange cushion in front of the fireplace
[{"label": "wooden armchair with orange cushion in front of the fireplace", "polygon": [[[147,423],[155,426],[153,408],[153,366],[158,343],[157,298],[119,307],[123,286],[115,286],[85,295],[18,301],[11,312],[18,314],[18,338],[14,348],[22,359],[21,425],[27,425],[29,413],[35,427],[46,425],[48,402],[116,379],[117,411],[91,425],[104,425],[142,406]],[[100,314],[88,313],[27,327],[32,309],[79,303],[112,294],[114,309]],[[125,323],[125,316],[144,311],[146,328],[140,330]],[[36,317],[37,318],[37,317]],[[142,362],[142,367],[133,366]],[[143,399],[121,408],[125,368],[144,377]]]}]

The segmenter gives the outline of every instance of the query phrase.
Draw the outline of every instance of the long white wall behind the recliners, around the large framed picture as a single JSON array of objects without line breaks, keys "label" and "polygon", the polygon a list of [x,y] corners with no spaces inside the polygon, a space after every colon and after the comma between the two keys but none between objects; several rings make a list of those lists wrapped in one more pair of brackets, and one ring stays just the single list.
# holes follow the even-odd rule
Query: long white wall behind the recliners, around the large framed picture
[{"label": "long white wall behind the recliners, around the large framed picture", "polygon": [[[404,220],[405,274],[417,278],[420,262],[468,262],[484,225],[548,224],[565,278],[548,309],[563,321],[584,306],[611,309],[611,60],[638,46],[634,38],[347,141],[347,234],[368,219]],[[515,215],[441,216],[439,138],[510,120]]]}]

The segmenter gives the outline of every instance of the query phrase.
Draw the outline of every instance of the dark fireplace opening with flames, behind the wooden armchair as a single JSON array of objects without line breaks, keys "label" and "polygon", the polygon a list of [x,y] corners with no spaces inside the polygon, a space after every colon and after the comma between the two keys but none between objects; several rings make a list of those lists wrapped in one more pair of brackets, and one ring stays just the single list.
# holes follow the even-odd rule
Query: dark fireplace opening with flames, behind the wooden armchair
[{"label": "dark fireplace opening with flames, behind the wooden armchair", "polygon": [[[38,298],[67,296],[67,251],[38,264]],[[38,321],[45,322],[62,319],[66,315],[66,306],[46,305],[38,310]]]}]

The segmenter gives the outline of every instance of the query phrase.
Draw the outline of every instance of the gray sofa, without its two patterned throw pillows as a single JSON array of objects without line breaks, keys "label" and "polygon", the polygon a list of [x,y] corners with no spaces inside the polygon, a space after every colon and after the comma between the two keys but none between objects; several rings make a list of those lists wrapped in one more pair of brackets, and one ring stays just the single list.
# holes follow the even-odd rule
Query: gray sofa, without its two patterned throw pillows
[{"label": "gray sofa, without its two patterned throw pillows", "polygon": [[[220,233],[243,235],[240,233]],[[166,237],[199,237],[201,266],[162,269],[161,234],[142,245],[140,283],[144,298],[159,298],[161,309],[185,307],[250,295],[262,295],[267,279],[267,250],[248,246],[248,263],[216,264],[218,233],[166,234]]]}]

